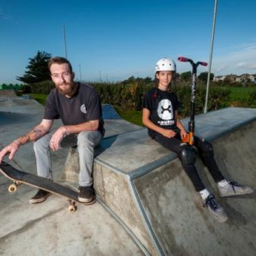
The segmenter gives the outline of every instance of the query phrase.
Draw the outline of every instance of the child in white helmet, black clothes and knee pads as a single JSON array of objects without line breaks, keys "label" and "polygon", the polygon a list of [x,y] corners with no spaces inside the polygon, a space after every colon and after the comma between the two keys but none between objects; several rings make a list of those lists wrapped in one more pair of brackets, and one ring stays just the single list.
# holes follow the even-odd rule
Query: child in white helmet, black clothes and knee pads
[{"label": "child in white helmet, black clothes and knee pads", "polygon": [[163,58],[157,62],[155,67],[157,87],[149,90],[144,96],[142,122],[148,127],[148,134],[152,139],[178,155],[184,171],[203,199],[203,206],[209,209],[218,222],[225,222],[228,219],[227,214],[217,203],[215,196],[207,190],[194,166],[197,150],[217,183],[220,197],[251,194],[254,190],[224,178],[215,162],[213,148],[209,142],[195,136],[194,146],[197,150],[194,146],[181,142],[181,139],[187,135],[187,131],[178,120],[177,110],[181,104],[175,93],[170,92],[169,89],[175,71],[176,66],[172,59]]}]

